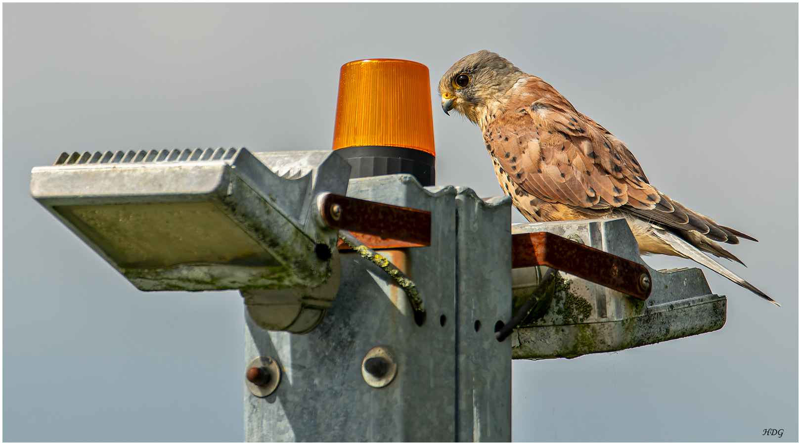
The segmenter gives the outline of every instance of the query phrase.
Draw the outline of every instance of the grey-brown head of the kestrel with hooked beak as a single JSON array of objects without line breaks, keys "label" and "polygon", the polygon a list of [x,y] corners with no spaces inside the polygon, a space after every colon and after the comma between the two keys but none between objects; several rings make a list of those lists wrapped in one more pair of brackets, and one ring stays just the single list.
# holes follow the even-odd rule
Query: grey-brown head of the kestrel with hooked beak
[{"label": "grey-brown head of the kestrel with hooked beak", "polygon": [[440,79],[442,110],[456,110],[473,123],[499,101],[517,79],[527,74],[512,62],[488,50],[465,56]]}]

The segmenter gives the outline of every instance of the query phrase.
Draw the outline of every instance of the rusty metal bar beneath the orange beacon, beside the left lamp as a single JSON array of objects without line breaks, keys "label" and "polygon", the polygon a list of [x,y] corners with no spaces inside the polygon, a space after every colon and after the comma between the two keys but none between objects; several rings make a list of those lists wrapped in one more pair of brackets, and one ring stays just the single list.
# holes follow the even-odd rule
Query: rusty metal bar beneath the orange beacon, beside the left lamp
[{"label": "rusty metal bar beneath the orange beacon, beside the left lamp", "polygon": [[[431,212],[429,211],[326,193],[320,197],[320,213],[329,227],[372,235],[372,237],[364,237],[366,241],[372,241],[372,243],[362,241],[370,248],[431,245]],[[377,239],[373,237],[377,237]],[[357,238],[361,237],[357,236]],[[397,240],[401,243],[393,243],[390,240]]]}]

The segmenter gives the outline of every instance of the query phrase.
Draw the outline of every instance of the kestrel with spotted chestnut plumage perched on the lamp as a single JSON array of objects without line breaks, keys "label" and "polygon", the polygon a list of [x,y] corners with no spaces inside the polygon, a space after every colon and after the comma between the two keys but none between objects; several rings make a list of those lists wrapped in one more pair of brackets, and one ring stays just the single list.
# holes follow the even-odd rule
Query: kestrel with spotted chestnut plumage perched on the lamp
[{"label": "kestrel with spotted chestnut plumage perched on the lamp", "polygon": [[641,254],[692,259],[779,306],[702,253],[743,264],[716,242],[756,239],[657,190],[623,142],[541,78],[481,50],[451,66],[439,91],[446,114],[481,126],[501,189],[529,221],[626,218]]}]

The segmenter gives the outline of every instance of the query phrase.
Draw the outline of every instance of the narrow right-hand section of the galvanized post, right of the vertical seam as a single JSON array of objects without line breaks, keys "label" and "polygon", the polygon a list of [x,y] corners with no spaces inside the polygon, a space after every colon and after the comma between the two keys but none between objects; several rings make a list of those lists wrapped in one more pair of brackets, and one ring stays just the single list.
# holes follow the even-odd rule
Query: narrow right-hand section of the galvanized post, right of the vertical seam
[{"label": "narrow right-hand section of the galvanized post, right of the vertical seam", "polygon": [[457,440],[511,441],[512,348],[495,338],[512,312],[511,198],[457,191]]}]

